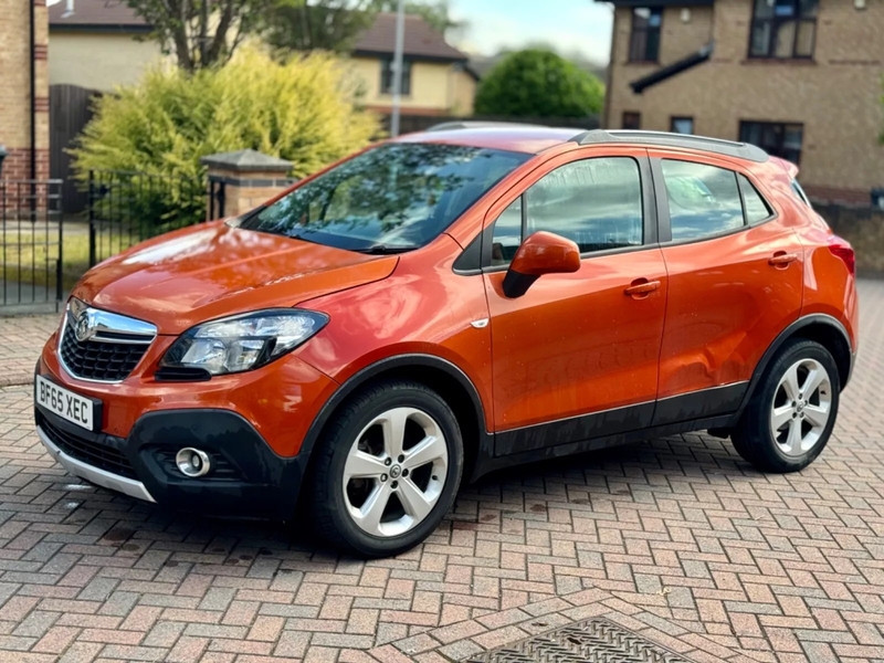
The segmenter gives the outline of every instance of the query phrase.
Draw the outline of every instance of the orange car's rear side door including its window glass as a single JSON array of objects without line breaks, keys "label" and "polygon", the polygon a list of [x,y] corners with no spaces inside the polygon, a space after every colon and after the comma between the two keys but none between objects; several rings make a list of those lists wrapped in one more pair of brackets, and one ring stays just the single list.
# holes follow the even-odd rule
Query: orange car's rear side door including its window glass
[{"label": "orange car's rear side door including its window glass", "polygon": [[798,318],[801,244],[727,164],[654,152],[669,304],[654,424],[734,412],[761,355]]}]

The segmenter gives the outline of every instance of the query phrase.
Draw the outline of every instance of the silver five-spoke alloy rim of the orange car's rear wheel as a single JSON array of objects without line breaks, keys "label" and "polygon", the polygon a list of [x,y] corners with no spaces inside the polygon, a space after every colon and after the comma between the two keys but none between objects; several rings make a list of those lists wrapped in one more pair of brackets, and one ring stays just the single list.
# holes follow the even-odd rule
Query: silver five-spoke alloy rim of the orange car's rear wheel
[{"label": "silver five-spoke alloy rim of the orange car's rear wheel", "polygon": [[800,359],[774,392],[770,432],[780,451],[800,456],[822,439],[832,415],[832,381],[815,359]]}]

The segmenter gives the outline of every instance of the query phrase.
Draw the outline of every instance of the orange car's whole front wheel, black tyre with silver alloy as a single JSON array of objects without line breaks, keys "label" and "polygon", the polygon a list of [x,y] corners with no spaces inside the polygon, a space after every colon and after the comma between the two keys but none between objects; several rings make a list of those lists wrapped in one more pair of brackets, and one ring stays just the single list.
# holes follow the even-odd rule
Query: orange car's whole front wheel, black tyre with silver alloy
[{"label": "orange car's whole front wheel, black tyre with silver alloy", "polygon": [[417,382],[362,391],[336,414],[317,452],[312,497],[319,534],[366,557],[398,555],[432,534],[463,472],[454,413]]}]

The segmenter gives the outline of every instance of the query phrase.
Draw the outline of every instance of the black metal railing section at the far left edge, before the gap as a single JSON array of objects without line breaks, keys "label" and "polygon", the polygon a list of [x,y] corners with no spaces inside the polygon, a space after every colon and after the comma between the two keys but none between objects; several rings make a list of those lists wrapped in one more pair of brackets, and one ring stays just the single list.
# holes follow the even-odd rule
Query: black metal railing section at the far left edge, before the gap
[{"label": "black metal railing section at the far left edge, before the gap", "polygon": [[63,183],[0,180],[0,313],[57,311],[64,297]]}]

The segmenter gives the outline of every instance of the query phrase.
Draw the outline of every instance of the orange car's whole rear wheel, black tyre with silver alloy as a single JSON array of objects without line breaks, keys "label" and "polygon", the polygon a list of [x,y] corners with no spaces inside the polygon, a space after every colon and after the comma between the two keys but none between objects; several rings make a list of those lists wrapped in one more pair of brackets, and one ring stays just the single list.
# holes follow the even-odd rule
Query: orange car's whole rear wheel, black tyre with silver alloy
[{"label": "orange car's whole rear wheel, black tyre with silver alloy", "polygon": [[734,448],[762,472],[807,467],[829,442],[840,392],[829,350],[812,340],[788,341],[734,429]]}]

